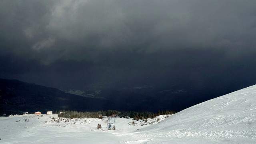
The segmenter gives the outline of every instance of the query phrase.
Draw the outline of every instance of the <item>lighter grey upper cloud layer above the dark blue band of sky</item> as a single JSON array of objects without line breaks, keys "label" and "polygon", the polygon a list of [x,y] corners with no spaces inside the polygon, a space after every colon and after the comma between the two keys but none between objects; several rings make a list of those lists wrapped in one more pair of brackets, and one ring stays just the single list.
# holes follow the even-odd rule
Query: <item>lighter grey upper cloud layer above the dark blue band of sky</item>
[{"label": "lighter grey upper cloud layer above the dark blue band of sky", "polygon": [[38,58],[94,59],[104,52],[255,47],[256,2],[1,1],[2,52]]}]

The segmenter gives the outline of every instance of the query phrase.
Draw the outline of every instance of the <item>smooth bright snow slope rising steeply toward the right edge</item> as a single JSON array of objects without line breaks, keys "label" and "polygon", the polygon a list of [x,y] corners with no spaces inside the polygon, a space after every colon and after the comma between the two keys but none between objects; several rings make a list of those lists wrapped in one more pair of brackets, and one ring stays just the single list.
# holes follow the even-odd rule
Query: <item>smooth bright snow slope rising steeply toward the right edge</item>
[{"label": "smooth bright snow slope rising steeply toward the right edge", "polygon": [[146,128],[140,137],[152,139],[149,144],[164,141],[256,143],[255,104],[254,85],[178,112],[159,124]]}]

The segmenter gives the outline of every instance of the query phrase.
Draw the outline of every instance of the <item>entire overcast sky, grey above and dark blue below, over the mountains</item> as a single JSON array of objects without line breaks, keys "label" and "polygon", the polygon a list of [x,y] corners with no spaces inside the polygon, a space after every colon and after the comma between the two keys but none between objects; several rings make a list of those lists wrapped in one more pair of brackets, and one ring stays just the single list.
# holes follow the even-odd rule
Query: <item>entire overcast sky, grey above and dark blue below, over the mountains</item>
[{"label": "entire overcast sky, grey above and dark blue below, over the mountains", "polygon": [[0,78],[77,89],[256,84],[255,0],[1,0]]}]

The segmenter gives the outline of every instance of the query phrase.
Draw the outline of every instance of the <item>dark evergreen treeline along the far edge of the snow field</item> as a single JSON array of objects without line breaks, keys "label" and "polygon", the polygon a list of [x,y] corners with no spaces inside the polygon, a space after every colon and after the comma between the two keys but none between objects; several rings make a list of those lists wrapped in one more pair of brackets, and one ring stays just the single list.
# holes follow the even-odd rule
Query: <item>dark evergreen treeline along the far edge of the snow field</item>
[{"label": "dark evergreen treeline along the far edge of the snow field", "polygon": [[[63,112],[60,114],[60,112]],[[57,113],[57,112],[56,112]],[[143,120],[145,118],[154,118],[156,116],[160,116],[162,114],[174,114],[174,111],[158,111],[158,113],[154,112],[134,112],[134,111],[122,111],[119,112],[117,110],[107,110],[107,111],[98,111],[98,112],[77,112],[77,111],[70,111],[70,110],[62,110],[58,112],[58,117],[64,118],[99,118],[99,114],[102,116],[112,116],[116,114],[120,116],[120,118],[134,118],[134,120]]]}]

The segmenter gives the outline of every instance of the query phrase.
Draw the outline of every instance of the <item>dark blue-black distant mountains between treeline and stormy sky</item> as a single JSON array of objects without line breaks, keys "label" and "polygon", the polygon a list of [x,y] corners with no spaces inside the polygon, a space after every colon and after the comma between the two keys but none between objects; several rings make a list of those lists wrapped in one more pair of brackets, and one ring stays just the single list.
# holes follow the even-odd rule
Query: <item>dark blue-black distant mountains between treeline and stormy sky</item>
[{"label": "dark blue-black distant mountains between treeline and stormy sky", "polygon": [[209,96],[178,88],[157,90],[141,86],[119,90],[62,91],[19,80],[0,79],[0,116],[59,110],[178,112],[208,99]]}]

